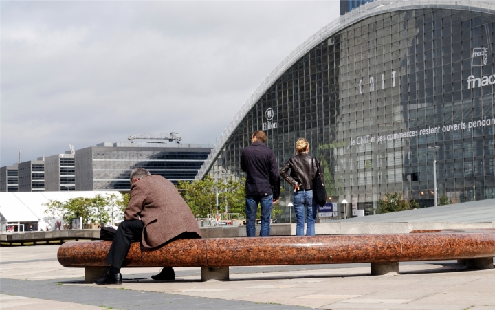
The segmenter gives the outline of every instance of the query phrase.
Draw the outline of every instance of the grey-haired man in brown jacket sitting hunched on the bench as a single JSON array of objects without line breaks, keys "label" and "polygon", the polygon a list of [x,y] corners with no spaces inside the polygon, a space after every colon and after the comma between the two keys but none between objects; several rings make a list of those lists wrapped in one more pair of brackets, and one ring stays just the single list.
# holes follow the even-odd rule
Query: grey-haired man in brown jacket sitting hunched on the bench
[{"label": "grey-haired man in brown jacket sitting hunched on the bench", "polygon": [[[120,267],[129,252],[132,240],[141,240],[142,247],[153,249],[172,239],[201,238],[199,225],[177,188],[160,175],[151,175],[144,168],[131,173],[131,198],[115,233],[105,260],[111,265],[95,284],[121,284]],[[174,280],[172,267],[151,276],[154,280]]]}]

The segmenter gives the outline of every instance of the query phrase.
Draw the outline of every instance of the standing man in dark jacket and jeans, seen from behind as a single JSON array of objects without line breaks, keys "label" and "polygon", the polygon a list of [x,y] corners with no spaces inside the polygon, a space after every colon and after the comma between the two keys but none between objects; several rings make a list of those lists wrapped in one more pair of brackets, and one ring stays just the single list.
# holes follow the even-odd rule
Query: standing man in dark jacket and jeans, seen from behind
[{"label": "standing man in dark jacket and jeans, seen from behind", "polygon": [[243,149],[241,156],[241,168],[247,174],[245,190],[248,237],[254,237],[256,234],[254,222],[258,204],[261,205],[260,236],[270,236],[272,206],[280,197],[281,181],[275,153],[266,146],[266,140],[266,133],[254,131],[251,145]]}]

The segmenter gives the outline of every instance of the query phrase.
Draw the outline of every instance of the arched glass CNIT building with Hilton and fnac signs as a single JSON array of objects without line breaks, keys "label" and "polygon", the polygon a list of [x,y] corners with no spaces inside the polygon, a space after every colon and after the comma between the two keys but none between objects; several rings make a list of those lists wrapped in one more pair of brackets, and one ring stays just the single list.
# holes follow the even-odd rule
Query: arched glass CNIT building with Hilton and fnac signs
[{"label": "arched glass CNIT building with Hilton and fnac signs", "polygon": [[[361,5],[278,65],[197,178],[242,176],[241,151],[261,129],[280,167],[307,138],[329,201],[347,199],[366,214],[387,192],[433,206],[434,155],[439,196],[495,198],[494,39],[492,1]],[[288,221],[292,187],[284,186],[280,220]]]}]

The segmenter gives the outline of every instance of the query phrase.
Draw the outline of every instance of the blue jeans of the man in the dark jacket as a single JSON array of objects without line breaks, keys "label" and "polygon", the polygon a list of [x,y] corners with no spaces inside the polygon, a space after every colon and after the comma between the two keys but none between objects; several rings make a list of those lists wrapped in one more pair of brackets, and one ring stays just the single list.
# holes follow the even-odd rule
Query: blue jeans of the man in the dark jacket
[{"label": "blue jeans of the man in the dark jacket", "polygon": [[248,237],[256,236],[256,211],[258,203],[261,205],[261,230],[260,236],[270,236],[270,221],[272,219],[273,195],[246,196],[246,234]]}]

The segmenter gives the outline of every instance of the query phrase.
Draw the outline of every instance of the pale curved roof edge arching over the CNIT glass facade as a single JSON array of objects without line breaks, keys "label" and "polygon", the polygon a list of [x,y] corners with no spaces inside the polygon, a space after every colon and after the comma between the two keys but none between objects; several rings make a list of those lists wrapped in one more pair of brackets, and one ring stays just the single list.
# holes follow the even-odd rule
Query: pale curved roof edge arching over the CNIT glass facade
[{"label": "pale curved roof edge arching over the CNIT glass facade", "polygon": [[287,69],[292,67],[301,57],[307,52],[316,47],[318,44],[327,40],[329,37],[340,32],[358,21],[362,21],[371,16],[384,14],[387,12],[395,12],[399,10],[415,10],[415,9],[455,9],[455,10],[469,10],[474,12],[485,12],[495,14],[495,3],[492,1],[479,1],[479,0],[376,0],[374,2],[361,5],[359,8],[347,12],[344,16],[340,16],[338,19],[333,20],[331,23],[322,27],[316,34],[310,36],[303,44],[294,49],[281,63],[279,63],[275,69],[263,80],[258,89],[252,93],[248,101],[246,101],[239,112],[232,118],[232,121],[225,128],[225,131],[220,136],[217,144],[214,145],[210,155],[203,163],[195,179],[202,179],[204,175],[210,170],[214,161],[219,157],[220,151],[228,142],[232,133],[245,115],[251,111],[254,104],[263,96],[263,94],[272,87],[274,82],[278,80],[284,74]]}]

